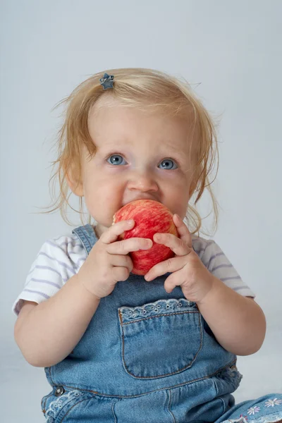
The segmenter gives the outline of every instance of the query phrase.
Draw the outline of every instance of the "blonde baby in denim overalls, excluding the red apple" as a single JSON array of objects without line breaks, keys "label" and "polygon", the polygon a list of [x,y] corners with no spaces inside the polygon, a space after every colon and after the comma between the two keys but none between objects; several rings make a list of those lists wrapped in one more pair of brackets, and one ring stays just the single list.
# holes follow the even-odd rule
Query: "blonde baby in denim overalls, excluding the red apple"
[{"label": "blonde baby in denim overalls, excluding the red apple", "polygon": [[[67,221],[70,189],[90,221],[42,245],[13,305],[16,343],[51,385],[47,422],[282,422],[282,394],[232,396],[236,355],[261,348],[266,321],[220,247],[199,236],[192,204],[206,188],[217,216],[216,130],[202,102],[166,73],[123,68],[93,75],[66,103],[54,209]],[[113,224],[114,214],[141,199],[171,210],[178,237],[119,240],[135,221]],[[133,274],[130,252],[153,242],[175,256]]]}]

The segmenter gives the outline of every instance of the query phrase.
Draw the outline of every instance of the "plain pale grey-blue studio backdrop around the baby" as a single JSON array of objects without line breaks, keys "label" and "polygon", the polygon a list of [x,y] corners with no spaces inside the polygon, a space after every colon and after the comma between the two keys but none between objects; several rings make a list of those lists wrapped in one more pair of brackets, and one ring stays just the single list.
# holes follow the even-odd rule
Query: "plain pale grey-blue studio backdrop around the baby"
[{"label": "plain pale grey-blue studio backdrop around the baby", "polygon": [[261,350],[238,358],[235,399],[281,392],[282,1],[2,0],[0,15],[1,416],[44,422],[50,391],[13,341],[11,306],[44,240],[71,231],[59,213],[36,214],[49,204],[60,123],[51,109],[88,76],[118,67],[183,77],[221,116],[214,239],[268,322]]}]

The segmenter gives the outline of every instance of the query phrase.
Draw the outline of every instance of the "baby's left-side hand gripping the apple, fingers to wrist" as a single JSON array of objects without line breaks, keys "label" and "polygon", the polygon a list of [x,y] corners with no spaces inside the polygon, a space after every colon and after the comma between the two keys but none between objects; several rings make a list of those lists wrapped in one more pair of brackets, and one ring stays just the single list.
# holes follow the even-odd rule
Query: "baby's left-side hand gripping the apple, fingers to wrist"
[{"label": "baby's left-side hand gripping the apple, fingers to wrist", "polygon": [[118,281],[126,281],[133,269],[128,253],[147,250],[152,240],[129,238],[118,241],[118,235],[133,228],[135,222],[120,221],[102,233],[78,272],[78,279],[97,298],[109,295]]}]

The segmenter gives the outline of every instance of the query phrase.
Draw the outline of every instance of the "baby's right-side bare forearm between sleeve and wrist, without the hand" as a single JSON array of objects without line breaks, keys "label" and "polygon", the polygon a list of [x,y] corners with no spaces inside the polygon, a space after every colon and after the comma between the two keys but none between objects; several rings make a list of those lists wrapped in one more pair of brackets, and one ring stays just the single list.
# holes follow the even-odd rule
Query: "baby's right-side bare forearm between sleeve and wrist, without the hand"
[{"label": "baby's right-side bare forearm between sleeve and wrist, without the hand", "polygon": [[266,319],[252,298],[243,297],[214,277],[212,289],[197,305],[223,348],[235,355],[254,354],[261,348]]}]

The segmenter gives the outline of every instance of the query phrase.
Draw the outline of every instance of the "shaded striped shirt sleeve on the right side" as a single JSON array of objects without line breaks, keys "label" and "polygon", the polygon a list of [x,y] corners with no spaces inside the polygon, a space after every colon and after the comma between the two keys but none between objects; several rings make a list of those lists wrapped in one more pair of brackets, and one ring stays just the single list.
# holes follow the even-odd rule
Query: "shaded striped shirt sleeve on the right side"
[{"label": "shaded striped shirt sleeve on the right side", "polygon": [[238,294],[255,298],[255,293],[243,282],[238,271],[236,271],[219,245],[214,240],[205,240],[204,244],[195,243],[195,247],[194,245],[193,247],[207,269]]}]

